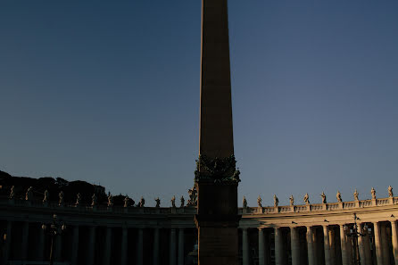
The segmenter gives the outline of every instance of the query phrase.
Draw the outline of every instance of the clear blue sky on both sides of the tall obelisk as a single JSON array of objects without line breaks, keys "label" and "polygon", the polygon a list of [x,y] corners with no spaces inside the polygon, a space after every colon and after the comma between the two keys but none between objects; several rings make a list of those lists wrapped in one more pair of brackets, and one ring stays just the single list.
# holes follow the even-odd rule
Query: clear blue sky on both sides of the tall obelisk
[{"label": "clear blue sky on both sides of the tall obelisk", "polygon": [[[1,1],[0,170],[187,196],[199,0]],[[398,194],[398,2],[229,0],[239,204]],[[137,201],[136,199],[136,201]]]}]

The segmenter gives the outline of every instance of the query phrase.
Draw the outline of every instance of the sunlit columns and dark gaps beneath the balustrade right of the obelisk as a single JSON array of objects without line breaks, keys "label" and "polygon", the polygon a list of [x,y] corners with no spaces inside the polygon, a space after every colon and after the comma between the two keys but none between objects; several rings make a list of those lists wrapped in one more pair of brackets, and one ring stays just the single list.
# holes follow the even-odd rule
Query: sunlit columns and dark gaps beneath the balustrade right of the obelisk
[{"label": "sunlit columns and dark gaps beneath the balustrade right of the obelisk", "polygon": [[[365,231],[364,226],[369,226]],[[350,228],[353,224],[324,224],[316,226],[261,227],[258,230],[259,265],[353,265]],[[373,228],[373,229],[372,229]],[[243,265],[257,264],[249,249],[248,230],[242,228]],[[252,230],[253,231],[253,230]],[[362,265],[398,265],[396,220],[358,223],[358,252]],[[274,240],[271,240],[271,237]],[[253,237],[252,237],[253,238]],[[306,244],[302,244],[305,238]],[[269,256],[271,249],[274,255]],[[287,256],[286,256],[287,255]]]}]

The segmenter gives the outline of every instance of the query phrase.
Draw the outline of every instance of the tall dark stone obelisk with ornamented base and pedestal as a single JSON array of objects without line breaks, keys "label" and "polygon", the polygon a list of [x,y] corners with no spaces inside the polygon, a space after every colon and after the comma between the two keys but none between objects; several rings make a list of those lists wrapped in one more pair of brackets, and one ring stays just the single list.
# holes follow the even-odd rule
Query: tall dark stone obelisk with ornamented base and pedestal
[{"label": "tall dark stone obelisk with ornamented base and pedestal", "polygon": [[237,185],[229,68],[228,0],[202,0],[197,190],[200,265],[237,265]]}]

